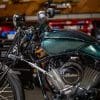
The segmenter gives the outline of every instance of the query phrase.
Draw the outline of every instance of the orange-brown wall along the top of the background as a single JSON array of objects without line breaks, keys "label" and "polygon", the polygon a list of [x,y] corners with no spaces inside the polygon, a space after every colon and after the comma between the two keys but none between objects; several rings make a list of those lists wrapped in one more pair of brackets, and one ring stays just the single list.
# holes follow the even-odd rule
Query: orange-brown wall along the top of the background
[{"label": "orange-brown wall along the top of the background", "polygon": [[[12,16],[14,13],[35,15],[43,9],[43,3],[47,0],[33,0],[29,3],[7,4],[5,9],[0,9],[0,16]],[[58,0],[54,0],[58,1]],[[62,0],[59,0],[62,1]],[[97,13],[100,12],[100,0],[80,0],[77,4],[72,4],[70,9],[61,9],[62,13]]]}]

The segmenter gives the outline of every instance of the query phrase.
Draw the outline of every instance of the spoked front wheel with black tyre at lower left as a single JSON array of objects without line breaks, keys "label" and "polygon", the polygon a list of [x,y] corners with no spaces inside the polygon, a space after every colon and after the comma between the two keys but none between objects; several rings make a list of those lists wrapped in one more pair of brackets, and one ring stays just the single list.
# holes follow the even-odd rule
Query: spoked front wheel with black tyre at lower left
[{"label": "spoked front wheel with black tyre at lower left", "polygon": [[[0,78],[5,71],[0,70]],[[15,73],[8,71],[0,81],[0,100],[24,100],[21,82]]]}]

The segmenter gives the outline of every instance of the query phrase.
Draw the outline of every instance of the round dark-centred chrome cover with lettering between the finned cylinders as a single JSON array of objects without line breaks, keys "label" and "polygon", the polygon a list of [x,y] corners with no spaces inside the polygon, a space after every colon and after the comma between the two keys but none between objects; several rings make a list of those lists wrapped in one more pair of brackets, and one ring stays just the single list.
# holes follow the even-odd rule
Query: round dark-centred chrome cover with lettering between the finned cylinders
[{"label": "round dark-centred chrome cover with lettering between the finned cylinders", "polygon": [[59,70],[60,76],[66,84],[76,85],[83,76],[83,69],[75,62],[65,63]]}]

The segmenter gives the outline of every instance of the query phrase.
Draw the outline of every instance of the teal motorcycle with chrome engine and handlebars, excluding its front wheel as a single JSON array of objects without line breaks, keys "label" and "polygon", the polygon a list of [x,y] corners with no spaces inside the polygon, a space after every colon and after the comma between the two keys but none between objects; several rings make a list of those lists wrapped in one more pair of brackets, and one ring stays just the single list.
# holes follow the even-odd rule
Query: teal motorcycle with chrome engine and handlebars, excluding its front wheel
[{"label": "teal motorcycle with chrome engine and handlebars, excluding its front wheel", "polygon": [[36,69],[45,100],[99,100],[99,42],[79,31],[49,29],[43,11],[38,19],[38,27],[23,29],[14,16],[21,26],[8,58]]}]

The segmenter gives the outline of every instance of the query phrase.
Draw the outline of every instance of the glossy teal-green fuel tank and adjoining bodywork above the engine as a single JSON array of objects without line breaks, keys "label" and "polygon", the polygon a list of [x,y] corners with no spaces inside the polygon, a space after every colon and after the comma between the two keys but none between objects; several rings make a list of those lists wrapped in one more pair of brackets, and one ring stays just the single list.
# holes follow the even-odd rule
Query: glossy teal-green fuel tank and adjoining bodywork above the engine
[{"label": "glossy teal-green fuel tank and adjoining bodywork above the engine", "polygon": [[42,35],[41,46],[48,55],[59,55],[77,51],[97,59],[100,58],[100,45],[94,38],[82,32],[56,30],[44,32]]}]

